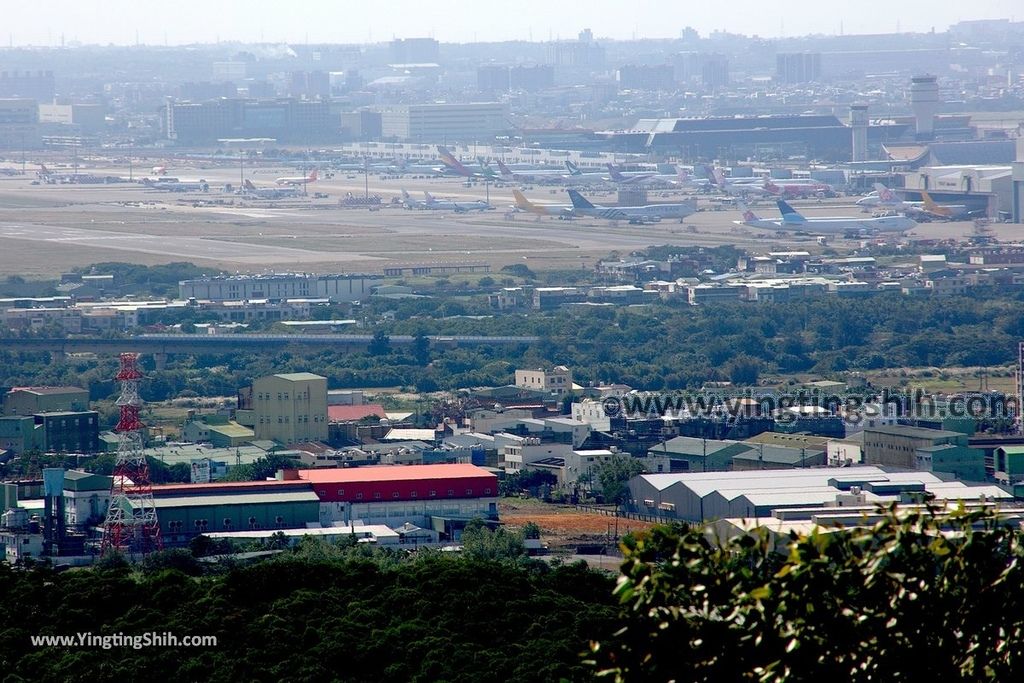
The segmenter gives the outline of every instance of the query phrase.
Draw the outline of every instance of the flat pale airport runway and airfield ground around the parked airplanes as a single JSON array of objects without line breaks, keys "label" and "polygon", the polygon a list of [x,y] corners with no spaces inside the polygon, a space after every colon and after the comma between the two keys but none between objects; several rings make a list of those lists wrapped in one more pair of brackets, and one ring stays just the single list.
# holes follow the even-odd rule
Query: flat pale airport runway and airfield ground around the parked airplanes
[{"label": "flat pale airport runway and airfield ground around the parked airplanes", "polygon": [[[154,162],[153,165],[157,165]],[[127,177],[127,168],[88,167],[82,173]],[[59,169],[58,172],[68,172]],[[294,167],[253,166],[245,177],[267,187]],[[228,165],[169,168],[182,179],[203,178],[208,193],[166,193],[138,183],[38,184],[34,174],[0,178],[0,269],[3,272],[56,274],[68,267],[98,260],[167,262],[199,260],[224,268],[294,268],[307,270],[379,270],[387,262],[425,263],[484,261],[495,270],[508,263],[537,267],[588,266],[612,252],[625,256],[651,245],[735,245],[758,251],[792,248],[819,252],[807,236],[777,236],[739,227],[735,208],[718,207],[706,196],[702,211],[682,223],[663,221],[629,225],[599,219],[560,221],[513,213],[512,186],[480,182],[466,185],[458,178],[381,177],[371,175],[370,193],[385,207],[379,211],[342,209],[346,194],[364,194],[364,176],[336,173],[308,186],[309,196],[285,201],[259,201],[223,191],[239,184],[239,169]],[[135,177],[139,177],[138,167]],[[453,213],[406,210],[389,206],[401,189],[419,198],[424,190],[437,198],[477,200],[487,197],[494,211]],[[524,189],[540,204],[567,204],[563,187],[534,185]],[[315,199],[313,193],[328,195]],[[614,194],[585,193],[597,204],[613,204]],[[655,191],[651,202],[680,201],[684,194]],[[795,202],[808,216],[859,215],[849,198]],[[773,203],[756,211],[776,215]],[[970,224],[930,223],[913,237],[948,238],[970,233]],[[829,246],[849,251],[856,241],[831,238]],[[110,252],[109,254],[106,252]]]}]

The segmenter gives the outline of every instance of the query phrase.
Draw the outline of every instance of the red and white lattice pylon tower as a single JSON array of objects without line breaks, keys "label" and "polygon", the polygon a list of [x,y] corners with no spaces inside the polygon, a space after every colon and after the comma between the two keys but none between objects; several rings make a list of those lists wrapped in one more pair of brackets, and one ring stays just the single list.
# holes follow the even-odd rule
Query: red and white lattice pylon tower
[{"label": "red and white lattice pylon tower", "polygon": [[111,507],[103,522],[102,552],[122,552],[129,556],[160,550],[160,521],[153,503],[153,482],[150,466],[142,453],[142,421],[138,396],[137,353],[121,354],[121,370],[116,380],[121,383],[118,397],[120,419],[114,430],[118,433],[118,461],[111,484]]}]

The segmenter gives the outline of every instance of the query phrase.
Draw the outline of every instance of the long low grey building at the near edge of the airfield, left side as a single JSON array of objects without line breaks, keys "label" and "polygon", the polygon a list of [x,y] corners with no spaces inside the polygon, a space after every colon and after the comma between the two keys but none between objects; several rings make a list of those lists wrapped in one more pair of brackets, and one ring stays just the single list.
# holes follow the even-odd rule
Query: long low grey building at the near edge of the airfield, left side
[{"label": "long low grey building at the near edge of the airfield, left side", "polygon": [[203,301],[322,298],[359,301],[379,283],[376,275],[273,273],[197,278],[178,283],[178,297]]}]

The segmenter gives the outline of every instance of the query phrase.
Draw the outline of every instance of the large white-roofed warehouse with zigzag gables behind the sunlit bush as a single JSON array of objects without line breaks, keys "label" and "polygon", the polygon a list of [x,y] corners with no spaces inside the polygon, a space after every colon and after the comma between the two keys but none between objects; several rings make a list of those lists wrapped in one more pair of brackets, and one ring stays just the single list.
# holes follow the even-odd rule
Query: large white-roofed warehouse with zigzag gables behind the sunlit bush
[{"label": "large white-roofed warehouse with zigzag gables behind the sunlit bush", "polygon": [[[858,505],[937,501],[1012,500],[994,485],[947,481],[934,472],[882,467],[821,467],[764,472],[641,474],[630,480],[628,508],[692,522],[767,517],[791,508],[835,508],[856,489]],[[848,502],[847,502],[848,503]]]}]

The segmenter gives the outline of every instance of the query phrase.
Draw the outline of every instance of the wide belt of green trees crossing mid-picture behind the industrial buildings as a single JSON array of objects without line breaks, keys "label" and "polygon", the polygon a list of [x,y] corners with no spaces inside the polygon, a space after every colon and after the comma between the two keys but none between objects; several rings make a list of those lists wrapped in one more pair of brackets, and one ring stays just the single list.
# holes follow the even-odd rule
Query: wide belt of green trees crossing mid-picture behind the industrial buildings
[{"label": "wide belt of green trees crossing mid-picture behind the industrial buildings", "polygon": [[[521,314],[478,315],[478,301],[407,299],[395,321],[378,328],[370,352],[174,357],[167,370],[148,368],[143,395],[181,392],[232,395],[253,378],[309,371],[332,388],[412,386],[421,390],[511,383],[516,367],[564,364],[582,382],[623,382],[644,389],[695,388],[709,381],[754,383],[767,373],[904,367],[998,366],[1013,362],[1024,338],[1024,295],[913,299],[898,294],[864,299],[816,297],[780,304],[691,307],[582,307]],[[466,317],[467,314],[477,315]],[[526,347],[438,350],[390,342],[394,335],[536,335]],[[150,359],[144,359],[151,362]],[[115,390],[113,359],[49,354],[0,354],[0,385],[83,384],[93,398]]]}]

